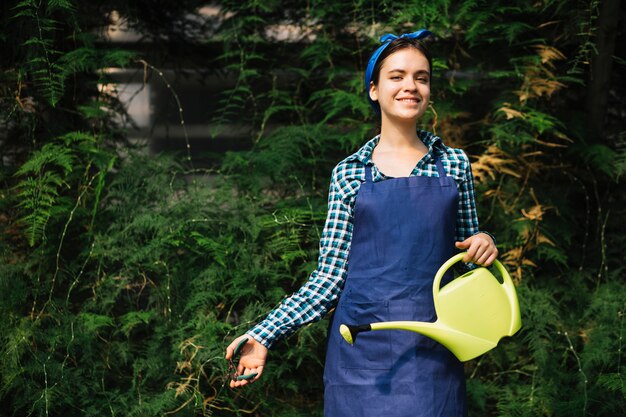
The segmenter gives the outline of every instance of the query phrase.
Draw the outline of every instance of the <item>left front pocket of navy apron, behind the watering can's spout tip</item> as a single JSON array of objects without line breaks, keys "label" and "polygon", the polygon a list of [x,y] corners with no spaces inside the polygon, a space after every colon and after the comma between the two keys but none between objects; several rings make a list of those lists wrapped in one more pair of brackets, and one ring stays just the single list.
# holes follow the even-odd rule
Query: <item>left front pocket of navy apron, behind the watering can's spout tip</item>
[{"label": "left front pocket of navy apron, behind the watering can's spout tip", "polygon": [[[346,302],[342,306],[342,323],[368,324],[389,321],[389,302]],[[339,366],[345,369],[388,370],[392,366],[390,330],[359,333],[356,342],[349,345],[341,339]]]}]

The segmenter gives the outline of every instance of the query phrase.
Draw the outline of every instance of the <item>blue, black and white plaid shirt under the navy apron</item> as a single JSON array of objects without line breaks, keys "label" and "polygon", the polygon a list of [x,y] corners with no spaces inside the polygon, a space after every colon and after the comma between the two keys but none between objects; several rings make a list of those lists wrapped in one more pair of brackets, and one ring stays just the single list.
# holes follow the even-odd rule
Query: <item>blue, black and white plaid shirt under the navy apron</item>
[{"label": "blue, black and white plaid shirt under the navy apron", "polygon": [[[439,137],[430,132],[420,130],[418,136],[428,147],[428,153],[415,166],[411,176],[437,177],[433,158],[436,155],[446,174],[454,178],[459,190],[456,240],[463,241],[479,233],[474,179],[467,155],[460,149],[444,145]],[[371,161],[379,139],[379,136],[371,139],[333,169],[318,266],[296,293],[285,298],[265,320],[247,332],[264,346],[270,348],[299,327],[320,320],[335,306],[347,276],[354,203],[359,187],[365,181],[365,165],[372,166],[374,182],[387,178]]]}]

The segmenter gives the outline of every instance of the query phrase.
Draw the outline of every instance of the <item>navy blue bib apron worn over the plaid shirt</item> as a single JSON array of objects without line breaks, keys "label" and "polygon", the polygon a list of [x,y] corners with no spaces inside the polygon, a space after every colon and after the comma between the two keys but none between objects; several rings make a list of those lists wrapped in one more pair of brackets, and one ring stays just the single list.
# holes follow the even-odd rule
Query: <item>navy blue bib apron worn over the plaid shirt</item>
[{"label": "navy blue bib apron worn over the plaid shirt", "polygon": [[439,343],[413,332],[377,330],[350,346],[339,333],[342,323],[436,320],[432,282],[455,253],[459,198],[454,179],[439,159],[436,165],[439,177],[376,183],[365,167],[348,276],[328,338],[325,417],[467,415],[463,365]]}]

